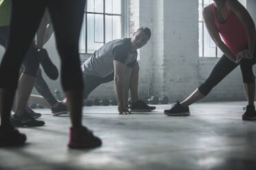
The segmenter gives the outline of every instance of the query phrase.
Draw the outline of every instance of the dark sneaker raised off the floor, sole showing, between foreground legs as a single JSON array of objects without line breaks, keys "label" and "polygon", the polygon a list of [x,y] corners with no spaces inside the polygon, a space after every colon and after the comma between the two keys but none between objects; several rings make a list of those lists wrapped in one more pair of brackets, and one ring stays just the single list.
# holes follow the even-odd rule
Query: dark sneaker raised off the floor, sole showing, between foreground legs
[{"label": "dark sneaker raised off the floor, sole showing, between foreground legs", "polygon": [[58,69],[50,60],[50,57],[46,51],[46,49],[38,49],[36,56],[39,57],[39,61],[43,66],[43,70],[45,74],[52,80],[56,80],[58,78]]}]

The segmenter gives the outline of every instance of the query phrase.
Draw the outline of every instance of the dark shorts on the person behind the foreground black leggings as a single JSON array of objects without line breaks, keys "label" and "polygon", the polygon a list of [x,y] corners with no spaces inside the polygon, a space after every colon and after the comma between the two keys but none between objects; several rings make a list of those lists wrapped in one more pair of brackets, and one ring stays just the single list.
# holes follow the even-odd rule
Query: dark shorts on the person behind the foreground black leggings
[{"label": "dark shorts on the person behind the foreground black leggings", "polygon": [[[9,26],[0,27],[0,45],[5,49],[8,45],[9,29]],[[39,69],[39,58],[36,57],[36,47],[34,47],[34,43],[30,45],[22,65],[24,66],[23,73],[36,77],[36,72]]]}]

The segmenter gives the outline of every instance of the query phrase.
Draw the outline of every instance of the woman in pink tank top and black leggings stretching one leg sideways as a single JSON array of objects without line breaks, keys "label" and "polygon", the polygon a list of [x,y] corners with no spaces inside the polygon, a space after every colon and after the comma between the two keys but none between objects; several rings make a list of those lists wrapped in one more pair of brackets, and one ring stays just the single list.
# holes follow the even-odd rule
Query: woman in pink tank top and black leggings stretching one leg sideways
[{"label": "woman in pink tank top and black leggings stretching one leg sideways", "polygon": [[[169,116],[189,115],[189,106],[202,99],[238,65],[242,71],[248,105],[242,115],[244,120],[256,120],[255,76],[256,63],[255,25],[246,8],[237,0],[213,0],[203,10],[206,27],[224,55],[215,64],[207,80],[182,102],[164,110]],[[222,38],[221,38],[222,37]],[[222,41],[223,39],[223,41]]]}]

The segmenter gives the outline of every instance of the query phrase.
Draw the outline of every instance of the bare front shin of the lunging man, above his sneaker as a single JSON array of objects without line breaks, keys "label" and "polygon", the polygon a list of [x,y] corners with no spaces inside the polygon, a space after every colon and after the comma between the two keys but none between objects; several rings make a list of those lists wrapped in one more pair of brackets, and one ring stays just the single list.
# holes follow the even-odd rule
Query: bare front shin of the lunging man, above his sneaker
[{"label": "bare front shin of the lunging man, above his sneaker", "polygon": [[139,100],[138,98],[138,73],[139,73],[138,62],[134,65],[131,71],[131,79],[130,79],[130,91],[131,91],[131,102],[136,102]]}]

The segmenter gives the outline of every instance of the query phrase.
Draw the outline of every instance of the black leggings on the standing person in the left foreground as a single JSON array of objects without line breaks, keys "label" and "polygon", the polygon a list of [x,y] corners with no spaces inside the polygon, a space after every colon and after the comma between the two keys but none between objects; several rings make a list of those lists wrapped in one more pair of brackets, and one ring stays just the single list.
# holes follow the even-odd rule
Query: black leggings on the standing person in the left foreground
[{"label": "black leggings on the standing person in the left foreground", "polygon": [[[83,89],[78,41],[83,22],[85,0],[13,0],[10,38],[0,66],[0,88],[13,94],[19,69],[39,23],[48,8],[54,25],[56,46],[61,56],[63,90]],[[8,74],[7,74],[8,73]]]}]

